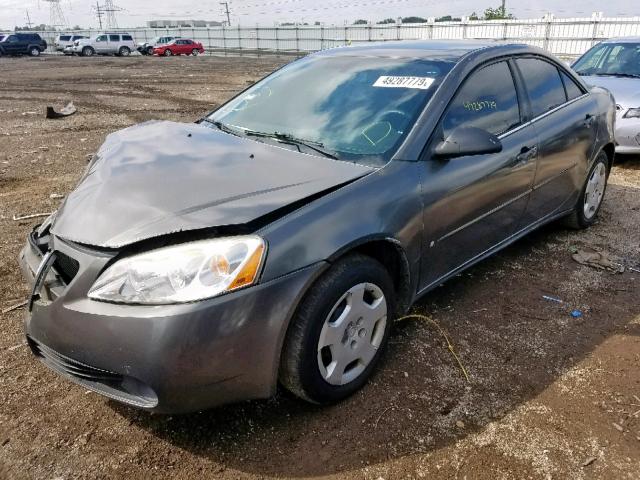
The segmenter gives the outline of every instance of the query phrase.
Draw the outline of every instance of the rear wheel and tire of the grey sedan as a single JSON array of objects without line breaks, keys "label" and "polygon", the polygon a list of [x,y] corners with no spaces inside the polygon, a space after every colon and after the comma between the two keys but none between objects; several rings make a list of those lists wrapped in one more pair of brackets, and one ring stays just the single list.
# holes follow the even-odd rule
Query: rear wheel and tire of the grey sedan
[{"label": "rear wheel and tire of the grey sedan", "polygon": [[595,223],[607,189],[608,178],[609,157],[605,152],[600,152],[589,170],[575,209],[565,218],[568,227],[583,229]]}]

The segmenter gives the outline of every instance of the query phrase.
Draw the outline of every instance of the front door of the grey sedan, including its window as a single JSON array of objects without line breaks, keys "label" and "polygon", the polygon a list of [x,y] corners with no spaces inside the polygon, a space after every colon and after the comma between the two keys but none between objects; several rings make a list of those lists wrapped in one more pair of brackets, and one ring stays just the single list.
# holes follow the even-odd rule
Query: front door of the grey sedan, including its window
[{"label": "front door of the grey sedan, including its window", "polygon": [[471,73],[447,107],[436,138],[455,127],[477,127],[497,135],[502,151],[425,161],[422,288],[482,257],[520,227],[537,149],[521,97],[513,65],[503,60]]}]

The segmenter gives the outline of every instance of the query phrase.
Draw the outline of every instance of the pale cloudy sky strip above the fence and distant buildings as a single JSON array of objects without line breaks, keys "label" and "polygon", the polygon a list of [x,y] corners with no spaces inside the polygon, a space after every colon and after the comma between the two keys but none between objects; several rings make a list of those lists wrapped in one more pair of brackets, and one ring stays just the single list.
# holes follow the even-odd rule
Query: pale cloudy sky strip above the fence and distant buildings
[{"label": "pale cloudy sky strip above the fence and distant buildings", "polygon": [[[58,0],[70,26],[98,27],[95,0]],[[99,0],[104,4],[105,0]],[[158,19],[225,19],[220,0],[113,0],[122,10],[116,14],[119,27],[144,26]],[[439,17],[481,13],[500,0],[228,0],[232,25],[273,25],[275,22],[316,21],[343,25],[356,19],[377,21],[399,16]],[[638,0],[507,0],[507,10],[518,18],[640,16]],[[48,0],[0,0],[0,28],[13,29],[27,23],[48,24]]]}]

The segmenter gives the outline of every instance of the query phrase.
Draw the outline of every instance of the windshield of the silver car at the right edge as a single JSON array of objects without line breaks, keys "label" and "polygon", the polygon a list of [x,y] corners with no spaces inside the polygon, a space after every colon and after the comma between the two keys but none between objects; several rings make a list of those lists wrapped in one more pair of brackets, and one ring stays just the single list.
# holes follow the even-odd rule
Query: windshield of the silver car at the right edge
[{"label": "windshield of the silver car at the right edge", "polygon": [[574,65],[579,75],[640,76],[640,42],[601,43]]}]

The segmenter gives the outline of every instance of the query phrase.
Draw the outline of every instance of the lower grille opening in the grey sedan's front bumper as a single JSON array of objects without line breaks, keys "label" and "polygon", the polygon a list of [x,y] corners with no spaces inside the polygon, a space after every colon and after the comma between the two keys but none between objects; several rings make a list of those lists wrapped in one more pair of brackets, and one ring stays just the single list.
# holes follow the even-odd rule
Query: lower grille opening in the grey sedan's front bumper
[{"label": "lower grille opening in the grey sedan's front bumper", "polygon": [[158,405],[156,393],[146,384],[126,375],[91,367],[66,357],[30,336],[31,351],[46,366],[89,390],[129,405],[154,408]]}]

